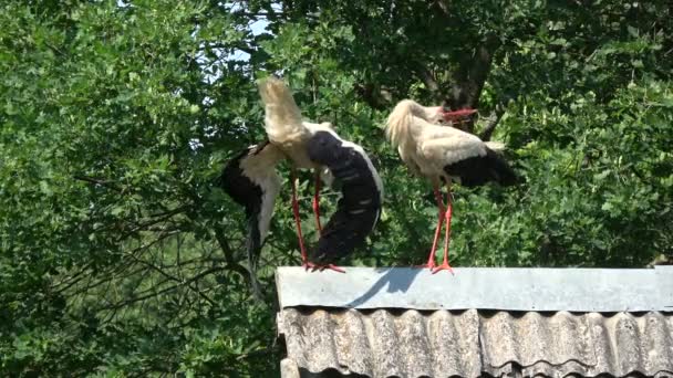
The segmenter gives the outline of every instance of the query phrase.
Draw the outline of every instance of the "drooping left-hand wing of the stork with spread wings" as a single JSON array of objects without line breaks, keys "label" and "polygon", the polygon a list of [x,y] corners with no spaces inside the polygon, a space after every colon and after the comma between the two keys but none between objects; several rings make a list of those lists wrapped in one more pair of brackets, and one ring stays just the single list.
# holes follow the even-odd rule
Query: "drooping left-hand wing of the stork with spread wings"
[{"label": "drooping left-hand wing of the stork with spread wings", "polygon": [[248,235],[246,250],[253,294],[263,295],[257,281],[257,264],[280,192],[280,178],[276,165],[284,155],[269,141],[246,148],[234,157],[219,177],[221,188],[246,210]]}]

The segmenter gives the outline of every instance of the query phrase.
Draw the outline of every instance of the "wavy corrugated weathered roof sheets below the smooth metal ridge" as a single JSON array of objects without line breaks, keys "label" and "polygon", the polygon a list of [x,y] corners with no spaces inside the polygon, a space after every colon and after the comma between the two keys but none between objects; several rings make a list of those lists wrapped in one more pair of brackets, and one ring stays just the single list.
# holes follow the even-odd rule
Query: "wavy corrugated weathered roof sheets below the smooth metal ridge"
[{"label": "wavy corrugated weathered roof sheets below the smooth metal ridge", "polygon": [[283,377],[673,377],[671,313],[284,308],[278,325]]}]

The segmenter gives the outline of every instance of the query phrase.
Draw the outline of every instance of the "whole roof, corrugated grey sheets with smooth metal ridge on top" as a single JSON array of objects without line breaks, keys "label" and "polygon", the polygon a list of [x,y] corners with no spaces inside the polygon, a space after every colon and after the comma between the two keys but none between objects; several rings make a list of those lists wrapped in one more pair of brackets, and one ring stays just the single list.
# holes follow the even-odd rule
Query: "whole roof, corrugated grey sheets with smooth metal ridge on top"
[{"label": "whole roof, corrugated grey sheets with smooth metal ridge on top", "polygon": [[283,377],[673,377],[673,267],[346,272],[277,271]]}]

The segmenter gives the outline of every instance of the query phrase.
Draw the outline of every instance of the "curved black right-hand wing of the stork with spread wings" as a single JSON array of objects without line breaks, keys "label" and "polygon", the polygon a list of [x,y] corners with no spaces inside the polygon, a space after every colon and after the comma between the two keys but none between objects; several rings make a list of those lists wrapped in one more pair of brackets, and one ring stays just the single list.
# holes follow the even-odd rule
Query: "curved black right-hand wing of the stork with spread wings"
[{"label": "curved black right-hand wing of the stork with spread wings", "polygon": [[329,132],[318,132],[307,144],[309,158],[327,166],[342,186],[336,211],[322,230],[310,260],[334,263],[364,243],[381,213],[381,192],[366,156]]}]

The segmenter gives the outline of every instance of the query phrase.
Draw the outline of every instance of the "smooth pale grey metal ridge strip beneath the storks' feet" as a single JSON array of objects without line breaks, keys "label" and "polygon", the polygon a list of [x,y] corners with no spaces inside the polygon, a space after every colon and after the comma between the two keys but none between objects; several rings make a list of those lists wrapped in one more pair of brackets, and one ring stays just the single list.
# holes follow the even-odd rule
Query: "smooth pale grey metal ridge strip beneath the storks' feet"
[{"label": "smooth pale grey metal ridge strip beneath the storks' feet", "polygon": [[413,267],[307,272],[281,266],[281,308],[673,312],[673,266],[655,269]]}]

